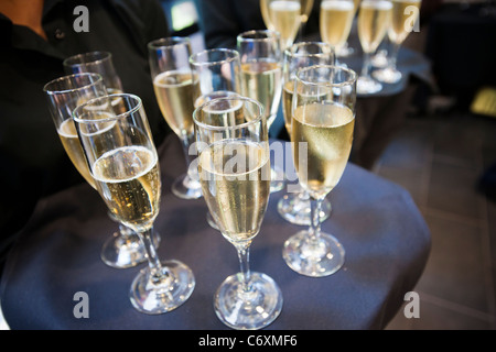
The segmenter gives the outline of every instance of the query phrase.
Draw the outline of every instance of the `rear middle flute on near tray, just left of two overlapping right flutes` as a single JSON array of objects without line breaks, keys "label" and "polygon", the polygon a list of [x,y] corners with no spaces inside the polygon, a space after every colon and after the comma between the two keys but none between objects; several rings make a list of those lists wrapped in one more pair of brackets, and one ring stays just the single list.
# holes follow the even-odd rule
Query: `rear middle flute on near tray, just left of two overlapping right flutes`
[{"label": "rear middle flute on near tray, just left of two overlapping right flutes", "polygon": [[[280,35],[270,30],[247,31],[237,36],[237,48],[241,59],[241,94],[262,105],[270,130],[282,94]],[[270,172],[270,191],[281,190],[284,170],[273,165]]]}]

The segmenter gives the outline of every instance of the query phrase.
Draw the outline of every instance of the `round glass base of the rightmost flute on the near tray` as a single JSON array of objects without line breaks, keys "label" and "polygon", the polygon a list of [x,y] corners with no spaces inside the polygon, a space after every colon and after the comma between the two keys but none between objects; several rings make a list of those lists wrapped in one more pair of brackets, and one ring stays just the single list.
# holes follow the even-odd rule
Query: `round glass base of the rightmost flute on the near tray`
[{"label": "round glass base of the rightmost flute on the near tray", "polygon": [[296,273],[322,277],[334,274],[343,266],[345,250],[328,233],[321,233],[319,240],[312,243],[309,231],[303,230],[285,241],[282,257]]}]

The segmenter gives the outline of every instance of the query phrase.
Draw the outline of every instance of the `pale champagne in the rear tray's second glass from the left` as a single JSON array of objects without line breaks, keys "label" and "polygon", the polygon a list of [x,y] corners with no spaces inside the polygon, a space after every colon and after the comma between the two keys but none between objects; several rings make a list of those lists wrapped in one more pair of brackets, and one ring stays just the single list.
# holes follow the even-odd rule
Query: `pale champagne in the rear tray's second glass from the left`
[{"label": "pale champagne in the rear tray's second glass from the left", "polygon": [[331,0],[321,3],[322,40],[338,51],[348,38],[352,30],[354,12],[353,1]]}]

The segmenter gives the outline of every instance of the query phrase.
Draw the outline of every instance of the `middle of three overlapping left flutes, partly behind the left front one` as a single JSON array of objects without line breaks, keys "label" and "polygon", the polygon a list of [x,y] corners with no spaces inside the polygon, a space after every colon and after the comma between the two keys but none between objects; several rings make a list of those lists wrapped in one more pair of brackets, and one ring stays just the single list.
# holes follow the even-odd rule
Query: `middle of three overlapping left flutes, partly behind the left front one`
[{"label": "middle of three overlapping left flutes, partly behind the left front one", "polygon": [[[91,73],[67,75],[47,82],[43,91],[67,155],[86,182],[96,188],[78,141],[72,112],[79,103],[107,95],[101,75]],[[119,222],[110,212],[109,216]],[[100,257],[109,266],[126,268],[143,262],[145,252],[138,235],[119,222],[119,231],[104,243]]]}]

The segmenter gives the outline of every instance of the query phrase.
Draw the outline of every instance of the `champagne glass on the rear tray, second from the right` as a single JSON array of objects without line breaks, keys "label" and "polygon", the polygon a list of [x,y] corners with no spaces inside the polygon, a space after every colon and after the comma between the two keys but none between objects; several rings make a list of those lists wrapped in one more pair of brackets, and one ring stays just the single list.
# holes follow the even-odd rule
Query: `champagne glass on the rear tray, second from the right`
[{"label": "champagne glass on the rear tray, second from the right", "polygon": [[370,95],[382,89],[382,85],[370,76],[370,55],[375,53],[389,28],[392,4],[389,0],[363,0],[358,13],[358,37],[364,51],[362,74],[357,80],[357,92]]}]

